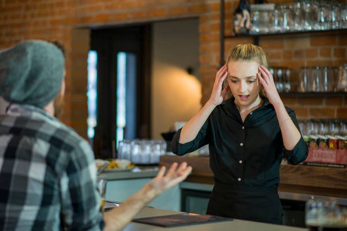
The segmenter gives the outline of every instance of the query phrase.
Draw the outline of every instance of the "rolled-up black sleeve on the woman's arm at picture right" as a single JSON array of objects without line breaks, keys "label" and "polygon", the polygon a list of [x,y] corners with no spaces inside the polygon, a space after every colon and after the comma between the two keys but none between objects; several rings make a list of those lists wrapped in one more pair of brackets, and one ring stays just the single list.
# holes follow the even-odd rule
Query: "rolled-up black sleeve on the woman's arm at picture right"
[{"label": "rolled-up black sleeve on the woman's arm at picture right", "polygon": [[[290,110],[288,112],[288,114],[291,117],[291,120],[293,121],[295,127],[300,132],[300,128],[299,128],[299,124],[298,124],[297,119],[296,119],[295,112],[293,110]],[[300,132],[300,134],[301,134],[301,132]],[[303,140],[302,136],[300,137],[299,141],[296,143],[295,147],[292,150],[287,150],[284,146],[282,149],[283,149],[283,153],[286,156],[288,162],[290,164],[294,164],[294,165],[303,162],[307,158],[307,155],[308,155],[307,143],[305,142],[305,140]]]}]

